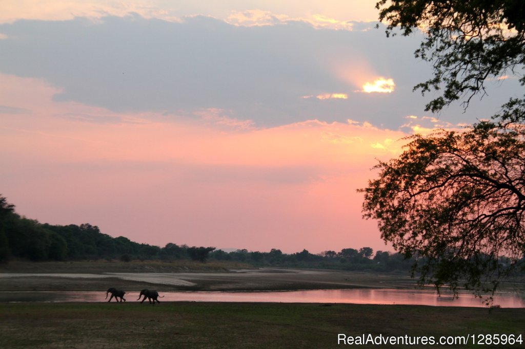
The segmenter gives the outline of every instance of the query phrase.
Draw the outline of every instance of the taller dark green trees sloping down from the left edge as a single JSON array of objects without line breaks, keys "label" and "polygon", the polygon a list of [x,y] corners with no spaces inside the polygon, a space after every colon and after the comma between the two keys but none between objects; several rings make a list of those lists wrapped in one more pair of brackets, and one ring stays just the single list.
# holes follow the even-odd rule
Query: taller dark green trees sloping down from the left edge
[{"label": "taller dark green trees sloping down from the left edge", "polygon": [[91,224],[51,225],[21,217],[0,195],[0,261],[18,257],[34,261],[80,259],[177,259],[204,261],[214,247],[165,247],[111,237]]}]

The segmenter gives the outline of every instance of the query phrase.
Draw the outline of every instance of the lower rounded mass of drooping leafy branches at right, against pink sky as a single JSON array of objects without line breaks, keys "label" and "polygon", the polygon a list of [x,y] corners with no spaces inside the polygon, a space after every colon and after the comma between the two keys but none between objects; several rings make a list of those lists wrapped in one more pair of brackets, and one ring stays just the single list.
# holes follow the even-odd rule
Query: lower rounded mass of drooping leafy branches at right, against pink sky
[{"label": "lower rounded mass of drooping leafy branches at right, against pink sky", "polygon": [[[499,122],[415,135],[380,162],[363,213],[381,236],[415,256],[420,282],[493,292],[525,256],[525,125],[512,105]],[[509,262],[499,263],[506,256]]]}]

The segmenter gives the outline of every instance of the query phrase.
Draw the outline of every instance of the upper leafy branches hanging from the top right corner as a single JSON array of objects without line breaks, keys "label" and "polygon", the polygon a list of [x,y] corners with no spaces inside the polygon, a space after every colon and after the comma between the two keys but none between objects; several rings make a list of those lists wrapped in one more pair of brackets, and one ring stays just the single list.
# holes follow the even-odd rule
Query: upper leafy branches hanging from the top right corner
[{"label": "upper leafy branches hanging from the top right corner", "polygon": [[[423,30],[424,41],[415,56],[432,62],[434,77],[416,85],[422,93],[442,95],[427,104],[437,112],[458,99],[464,107],[485,94],[485,81],[525,62],[525,2],[522,0],[380,0],[379,19],[386,34],[412,34]],[[525,75],[520,78],[525,84]]]}]

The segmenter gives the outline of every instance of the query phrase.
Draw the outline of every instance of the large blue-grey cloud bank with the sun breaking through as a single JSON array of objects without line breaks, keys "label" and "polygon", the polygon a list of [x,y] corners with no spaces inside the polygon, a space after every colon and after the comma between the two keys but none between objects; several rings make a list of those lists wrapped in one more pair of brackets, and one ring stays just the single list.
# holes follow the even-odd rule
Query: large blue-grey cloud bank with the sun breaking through
[{"label": "large blue-grey cloud bank with the sun breaking through", "polygon": [[[0,72],[46,81],[57,102],[114,113],[199,118],[203,110],[222,110],[223,124],[243,127],[351,118],[395,129],[428,100],[412,92],[429,73],[413,61],[417,33],[387,39],[382,30],[319,30],[303,21],[234,26],[204,16],[173,22],[138,14],[15,21],[0,32],[7,36]],[[395,81],[395,93],[352,93],[365,82],[372,91],[392,90],[386,78],[374,84],[377,77]],[[335,100],[344,103],[327,103]],[[469,108],[463,121],[483,116],[479,111]],[[453,107],[440,115],[455,117]]]}]

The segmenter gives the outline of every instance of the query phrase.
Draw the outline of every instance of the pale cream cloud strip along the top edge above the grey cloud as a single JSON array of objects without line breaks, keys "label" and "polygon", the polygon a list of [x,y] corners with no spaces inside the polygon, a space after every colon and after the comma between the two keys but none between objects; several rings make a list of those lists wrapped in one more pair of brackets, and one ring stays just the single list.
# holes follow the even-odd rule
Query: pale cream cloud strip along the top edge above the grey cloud
[{"label": "pale cream cloud strip along the top edge above the grey cloud", "polygon": [[[264,10],[261,10],[264,9]],[[325,0],[304,6],[300,0],[285,3],[276,0],[249,0],[209,2],[208,0],[129,0],[108,2],[106,0],[61,1],[19,0],[5,4],[0,12],[0,23],[12,23],[17,19],[69,20],[75,17],[101,18],[125,16],[137,13],[144,18],[180,21],[184,17],[203,15],[228,21],[228,18],[274,16],[281,20],[312,20],[328,25],[349,21],[377,21],[377,11],[371,1],[346,2]],[[261,15],[262,14],[262,15]]]}]

